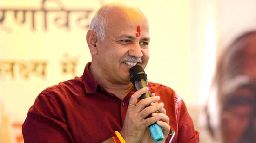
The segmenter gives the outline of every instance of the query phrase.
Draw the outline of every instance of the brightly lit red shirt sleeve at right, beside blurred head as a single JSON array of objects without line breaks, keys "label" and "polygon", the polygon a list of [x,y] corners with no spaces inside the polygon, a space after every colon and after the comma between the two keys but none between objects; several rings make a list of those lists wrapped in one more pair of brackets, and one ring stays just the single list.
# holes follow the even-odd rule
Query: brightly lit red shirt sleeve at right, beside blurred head
[{"label": "brightly lit red shirt sleeve at right, beside blurred head", "polygon": [[179,124],[177,143],[199,143],[199,132],[195,130],[193,120],[181,97],[178,97]]}]

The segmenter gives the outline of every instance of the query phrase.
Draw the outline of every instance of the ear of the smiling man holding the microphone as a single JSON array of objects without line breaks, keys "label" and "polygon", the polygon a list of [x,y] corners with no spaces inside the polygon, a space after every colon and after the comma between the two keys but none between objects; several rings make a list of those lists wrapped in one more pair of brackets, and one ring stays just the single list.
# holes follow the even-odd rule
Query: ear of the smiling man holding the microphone
[{"label": "ear of the smiling man holding the microphone", "polygon": [[90,49],[90,52],[92,55],[97,55],[98,50],[97,50],[97,35],[94,32],[94,30],[90,29],[88,30],[87,34],[86,34],[86,41],[88,44],[88,47]]}]

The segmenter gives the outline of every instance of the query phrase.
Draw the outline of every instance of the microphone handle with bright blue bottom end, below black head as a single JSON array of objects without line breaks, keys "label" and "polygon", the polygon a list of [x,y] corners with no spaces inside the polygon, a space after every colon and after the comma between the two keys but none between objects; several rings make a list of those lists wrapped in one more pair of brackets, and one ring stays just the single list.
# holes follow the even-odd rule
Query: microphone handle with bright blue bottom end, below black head
[{"label": "microphone handle with bright blue bottom end, below black head", "polygon": [[[140,81],[136,81],[134,85],[135,85],[136,90],[139,90],[139,89],[141,89],[143,87],[148,87],[148,81],[144,80],[144,79],[141,79]],[[146,93],[142,94],[139,99],[142,100],[142,99],[148,98],[150,96],[151,96],[151,93],[150,93],[149,87],[148,87],[148,91]],[[151,114],[148,115],[148,117],[146,117],[146,118],[149,118],[149,117],[152,117]],[[151,124],[149,126],[149,131],[150,131],[150,134],[151,134],[153,140],[156,143],[158,143],[158,142],[163,140],[162,127],[159,126],[158,124],[156,124],[156,123]]]}]

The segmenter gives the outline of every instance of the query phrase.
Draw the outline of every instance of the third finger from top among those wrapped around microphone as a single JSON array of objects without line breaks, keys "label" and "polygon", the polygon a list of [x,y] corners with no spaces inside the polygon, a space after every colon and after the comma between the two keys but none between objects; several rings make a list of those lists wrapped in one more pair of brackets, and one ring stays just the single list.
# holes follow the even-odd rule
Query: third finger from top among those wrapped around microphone
[{"label": "third finger from top among those wrapped around microphone", "polygon": [[164,106],[164,104],[162,102],[155,104],[154,106],[148,106],[139,113],[138,118],[146,118],[148,115],[152,114],[153,112],[158,111],[163,106]]}]

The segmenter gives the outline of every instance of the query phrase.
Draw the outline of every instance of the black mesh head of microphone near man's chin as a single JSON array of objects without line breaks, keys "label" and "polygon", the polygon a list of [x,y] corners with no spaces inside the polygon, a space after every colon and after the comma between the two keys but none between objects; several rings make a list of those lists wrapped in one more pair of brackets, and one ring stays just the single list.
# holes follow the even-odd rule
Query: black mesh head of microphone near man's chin
[{"label": "black mesh head of microphone near man's chin", "polygon": [[147,80],[147,74],[140,65],[135,65],[130,69],[130,78],[133,84],[141,79]]}]

